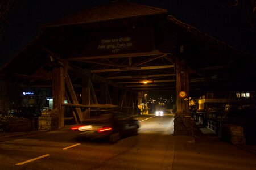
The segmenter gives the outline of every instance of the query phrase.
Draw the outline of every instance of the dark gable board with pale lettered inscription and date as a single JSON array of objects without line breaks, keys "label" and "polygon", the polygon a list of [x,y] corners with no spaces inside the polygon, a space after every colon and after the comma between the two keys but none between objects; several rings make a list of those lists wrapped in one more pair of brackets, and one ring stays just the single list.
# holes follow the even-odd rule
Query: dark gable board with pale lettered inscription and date
[{"label": "dark gable board with pale lettered inscription and date", "polygon": [[154,49],[150,29],[86,33],[82,56],[150,52]]}]

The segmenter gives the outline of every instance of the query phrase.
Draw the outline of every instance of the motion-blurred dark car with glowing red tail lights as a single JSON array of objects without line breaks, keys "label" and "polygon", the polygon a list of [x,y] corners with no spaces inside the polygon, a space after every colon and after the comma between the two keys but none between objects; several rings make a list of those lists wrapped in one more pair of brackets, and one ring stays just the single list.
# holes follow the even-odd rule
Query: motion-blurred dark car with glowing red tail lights
[{"label": "motion-blurred dark car with glowing red tail lights", "polygon": [[106,138],[109,142],[116,142],[126,135],[137,135],[138,128],[138,121],[134,118],[108,112],[85,120],[71,130],[90,139]]}]

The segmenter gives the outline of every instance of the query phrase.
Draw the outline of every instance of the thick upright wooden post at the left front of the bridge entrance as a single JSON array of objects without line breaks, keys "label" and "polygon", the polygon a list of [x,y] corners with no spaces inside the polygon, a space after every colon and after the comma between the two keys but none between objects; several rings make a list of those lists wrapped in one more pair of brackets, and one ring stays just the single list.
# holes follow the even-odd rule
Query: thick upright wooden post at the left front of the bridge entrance
[{"label": "thick upright wooden post at the left front of the bridge entrance", "polygon": [[52,70],[52,97],[53,110],[57,114],[56,129],[64,126],[64,107],[61,105],[65,100],[64,70],[62,67]]}]

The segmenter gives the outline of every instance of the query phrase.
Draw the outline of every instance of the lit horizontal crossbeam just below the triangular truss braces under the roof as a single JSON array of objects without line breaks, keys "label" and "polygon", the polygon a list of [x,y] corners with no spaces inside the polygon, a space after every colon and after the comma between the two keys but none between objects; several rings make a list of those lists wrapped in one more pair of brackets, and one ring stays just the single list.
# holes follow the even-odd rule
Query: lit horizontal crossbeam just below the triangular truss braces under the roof
[{"label": "lit horizontal crossbeam just below the triangular truss braces under the roof", "polygon": [[90,72],[91,73],[103,73],[103,72],[112,72],[112,71],[134,71],[134,70],[170,69],[170,68],[174,68],[174,65],[126,67],[126,68],[118,68],[118,69],[90,70]]}]

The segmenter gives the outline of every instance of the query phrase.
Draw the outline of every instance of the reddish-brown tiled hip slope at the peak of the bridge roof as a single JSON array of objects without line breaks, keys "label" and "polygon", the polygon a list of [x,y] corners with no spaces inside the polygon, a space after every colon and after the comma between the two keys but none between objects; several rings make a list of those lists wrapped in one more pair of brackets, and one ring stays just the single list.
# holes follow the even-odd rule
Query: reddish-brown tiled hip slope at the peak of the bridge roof
[{"label": "reddish-brown tiled hip slope at the peak of the bridge roof", "polygon": [[134,18],[148,15],[167,14],[167,10],[156,7],[139,5],[124,1],[104,3],[79,14],[67,16],[43,27],[59,27],[85,23],[106,22],[109,20]]}]

